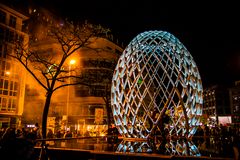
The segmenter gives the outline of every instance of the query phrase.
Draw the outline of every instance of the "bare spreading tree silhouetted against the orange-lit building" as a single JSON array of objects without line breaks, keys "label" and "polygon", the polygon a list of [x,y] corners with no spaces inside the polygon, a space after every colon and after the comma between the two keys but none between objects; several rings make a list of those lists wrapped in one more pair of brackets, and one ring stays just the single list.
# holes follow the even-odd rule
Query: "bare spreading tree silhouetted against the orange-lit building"
[{"label": "bare spreading tree silhouetted against the orange-lit building", "polygon": [[[48,40],[56,43],[58,53],[41,53],[39,52],[39,44],[31,42],[16,42],[14,52],[8,55],[18,62],[33,76],[33,78],[46,91],[45,105],[42,114],[42,136],[46,138],[47,116],[50,107],[51,97],[53,93],[65,86],[83,84],[81,76],[77,74],[69,74],[74,72],[67,67],[68,58],[81,48],[91,48],[91,44],[103,35],[109,32],[108,29],[100,25],[89,23],[75,24],[66,22],[64,25],[51,25],[47,29]],[[45,39],[46,40],[46,39]],[[99,49],[94,49],[99,51]],[[67,69],[68,68],[68,69]],[[69,82],[67,79],[75,77],[80,80]],[[60,83],[58,83],[60,82]]]}]

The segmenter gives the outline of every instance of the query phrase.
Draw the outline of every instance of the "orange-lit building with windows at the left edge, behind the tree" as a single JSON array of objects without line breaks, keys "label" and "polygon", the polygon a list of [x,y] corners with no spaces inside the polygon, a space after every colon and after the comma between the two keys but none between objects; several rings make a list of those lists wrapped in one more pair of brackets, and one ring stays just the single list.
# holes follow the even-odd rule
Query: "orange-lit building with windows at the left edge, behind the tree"
[{"label": "orange-lit building with windows at the left edge, behind the tree", "polygon": [[23,22],[28,17],[0,3],[0,128],[21,125],[24,106],[25,70],[7,56],[12,44],[28,39]]}]

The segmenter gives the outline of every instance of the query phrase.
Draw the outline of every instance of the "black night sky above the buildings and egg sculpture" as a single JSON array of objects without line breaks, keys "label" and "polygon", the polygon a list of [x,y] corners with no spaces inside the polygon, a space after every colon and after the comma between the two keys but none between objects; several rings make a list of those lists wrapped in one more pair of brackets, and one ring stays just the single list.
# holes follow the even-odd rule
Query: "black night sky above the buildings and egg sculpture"
[{"label": "black night sky above the buildings and egg sculpture", "polygon": [[[23,0],[15,0],[23,2]],[[32,0],[74,21],[88,20],[112,30],[126,46],[139,33],[163,30],[193,56],[203,81],[232,85],[240,80],[240,9],[226,1],[180,3],[161,0]]]}]

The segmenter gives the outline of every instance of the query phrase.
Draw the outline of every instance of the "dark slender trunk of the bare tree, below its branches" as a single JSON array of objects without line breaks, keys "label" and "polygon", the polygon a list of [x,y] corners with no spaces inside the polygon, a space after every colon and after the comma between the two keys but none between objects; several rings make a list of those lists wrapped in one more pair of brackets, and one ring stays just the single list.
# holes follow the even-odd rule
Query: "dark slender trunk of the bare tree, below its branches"
[{"label": "dark slender trunk of the bare tree, below its branches", "polygon": [[48,111],[51,103],[51,97],[52,92],[48,92],[45,100],[45,105],[43,109],[43,115],[42,115],[42,138],[46,139],[47,136],[47,117],[48,117]]}]

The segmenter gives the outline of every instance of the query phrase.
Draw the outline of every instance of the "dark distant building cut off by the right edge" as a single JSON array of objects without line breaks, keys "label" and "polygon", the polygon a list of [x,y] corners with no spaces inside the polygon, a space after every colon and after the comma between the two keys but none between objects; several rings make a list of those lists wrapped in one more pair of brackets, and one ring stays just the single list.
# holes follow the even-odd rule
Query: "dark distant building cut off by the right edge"
[{"label": "dark distant building cut off by the right edge", "polygon": [[240,81],[229,89],[230,106],[233,123],[240,123]]}]

